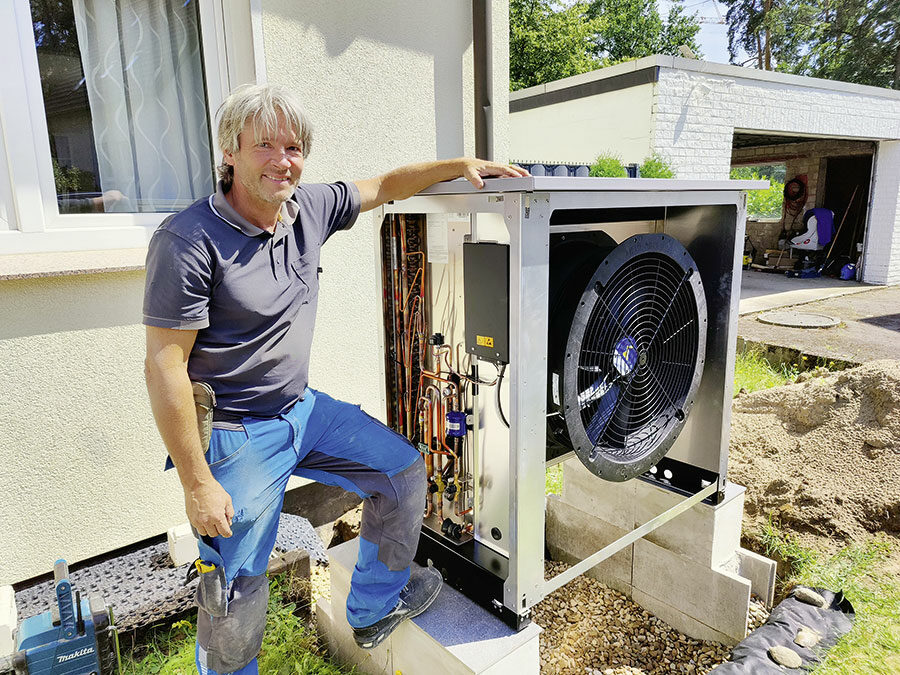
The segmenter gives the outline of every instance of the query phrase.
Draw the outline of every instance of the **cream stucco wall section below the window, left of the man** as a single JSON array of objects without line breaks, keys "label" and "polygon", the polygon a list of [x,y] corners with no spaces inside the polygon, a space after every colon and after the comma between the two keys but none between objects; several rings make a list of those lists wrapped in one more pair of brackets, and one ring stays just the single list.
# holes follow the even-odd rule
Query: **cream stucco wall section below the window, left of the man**
[{"label": "cream stucco wall section below the window, left of the man", "polygon": [[0,584],[184,520],[144,393],[143,285],[0,281]]}]

